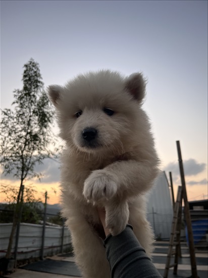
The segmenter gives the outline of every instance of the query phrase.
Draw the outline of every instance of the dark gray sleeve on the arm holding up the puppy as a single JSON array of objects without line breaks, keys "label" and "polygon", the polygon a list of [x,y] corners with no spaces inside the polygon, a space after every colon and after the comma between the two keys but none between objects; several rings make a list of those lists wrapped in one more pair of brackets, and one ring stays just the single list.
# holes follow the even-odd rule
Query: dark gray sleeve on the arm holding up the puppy
[{"label": "dark gray sleeve on the arm holding up the puppy", "polygon": [[109,235],[104,242],[112,278],[162,277],[127,225],[118,236]]}]

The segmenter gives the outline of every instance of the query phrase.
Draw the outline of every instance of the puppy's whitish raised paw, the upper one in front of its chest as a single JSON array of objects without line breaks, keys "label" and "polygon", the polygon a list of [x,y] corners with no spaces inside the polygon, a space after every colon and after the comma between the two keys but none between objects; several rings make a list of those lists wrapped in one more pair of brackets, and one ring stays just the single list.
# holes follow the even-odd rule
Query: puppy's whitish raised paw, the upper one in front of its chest
[{"label": "puppy's whitish raised paw, the upper one in front of its chest", "polygon": [[84,182],[83,195],[91,201],[109,200],[117,192],[118,178],[105,170],[93,171]]}]

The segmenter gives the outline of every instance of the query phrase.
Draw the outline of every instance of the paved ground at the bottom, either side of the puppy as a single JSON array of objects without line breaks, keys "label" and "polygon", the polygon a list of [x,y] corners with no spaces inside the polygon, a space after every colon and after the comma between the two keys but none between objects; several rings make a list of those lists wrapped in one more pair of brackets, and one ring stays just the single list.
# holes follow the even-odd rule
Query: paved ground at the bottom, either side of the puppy
[{"label": "paved ground at the bottom, either side of the puppy", "polygon": [[[164,274],[165,263],[168,252],[168,242],[157,242],[152,261],[161,275]],[[178,273],[173,275],[173,268],[169,270],[169,278],[184,278],[191,276],[190,255],[186,243],[181,244],[182,258],[179,258]],[[200,278],[207,278],[207,251],[196,251],[197,273]],[[5,275],[8,278],[66,278],[81,277],[74,263],[72,254],[62,254],[47,257],[43,261],[34,262],[15,269],[15,272]]]}]

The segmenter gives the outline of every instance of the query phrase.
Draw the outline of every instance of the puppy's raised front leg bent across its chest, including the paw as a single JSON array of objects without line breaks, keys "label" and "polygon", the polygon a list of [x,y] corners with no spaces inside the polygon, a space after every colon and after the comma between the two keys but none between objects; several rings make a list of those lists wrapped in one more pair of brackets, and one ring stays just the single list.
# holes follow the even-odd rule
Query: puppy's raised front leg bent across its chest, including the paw
[{"label": "puppy's raised front leg bent across its chest, including the paw", "polygon": [[92,202],[109,200],[115,195],[128,198],[144,193],[158,174],[155,161],[116,161],[94,170],[84,182],[83,195]]}]

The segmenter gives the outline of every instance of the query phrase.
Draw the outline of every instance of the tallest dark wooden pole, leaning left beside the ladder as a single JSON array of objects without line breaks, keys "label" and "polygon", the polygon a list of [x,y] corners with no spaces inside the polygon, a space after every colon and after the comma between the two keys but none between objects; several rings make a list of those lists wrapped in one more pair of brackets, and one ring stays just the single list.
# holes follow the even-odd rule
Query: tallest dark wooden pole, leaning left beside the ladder
[{"label": "tallest dark wooden pole, leaning left beside the ladder", "polygon": [[179,161],[179,168],[180,168],[180,174],[181,174],[182,195],[183,195],[183,200],[184,200],[184,212],[185,212],[186,225],[187,225],[187,231],[188,231],[189,253],[190,253],[190,260],[191,260],[191,273],[192,273],[192,278],[197,278],[198,276],[197,276],[197,269],[196,269],[196,258],[195,258],[194,242],[193,242],[193,232],[192,232],[189,204],[188,204],[187,193],[186,193],[186,183],[185,183],[185,177],[184,177],[180,142],[176,141],[176,144],[177,144],[178,161]]}]

